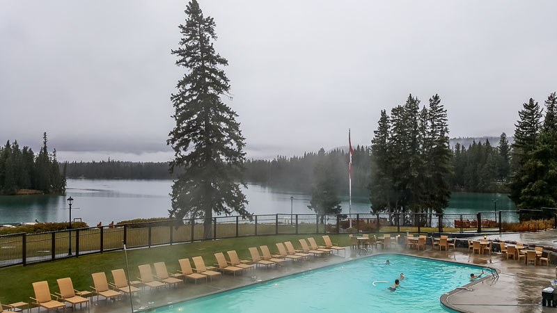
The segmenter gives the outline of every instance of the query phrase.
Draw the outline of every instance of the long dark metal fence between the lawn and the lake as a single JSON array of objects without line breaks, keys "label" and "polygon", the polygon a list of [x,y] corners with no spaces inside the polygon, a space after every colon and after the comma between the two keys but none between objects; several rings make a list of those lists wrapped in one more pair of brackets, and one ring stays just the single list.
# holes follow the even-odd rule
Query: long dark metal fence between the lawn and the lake
[{"label": "long dark metal fence between the lawn and the lake", "polygon": [[[511,216],[514,214],[514,216]],[[269,214],[212,218],[210,239],[270,234],[501,232],[517,211],[474,214]],[[0,236],[0,267],[204,240],[203,218]],[[350,227],[352,225],[352,227]]]}]

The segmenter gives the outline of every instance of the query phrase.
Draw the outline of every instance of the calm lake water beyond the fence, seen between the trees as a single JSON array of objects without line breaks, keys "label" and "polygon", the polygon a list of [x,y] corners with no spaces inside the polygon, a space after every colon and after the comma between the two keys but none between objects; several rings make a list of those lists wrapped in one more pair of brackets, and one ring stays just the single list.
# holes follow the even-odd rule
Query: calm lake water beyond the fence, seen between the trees
[{"label": "calm lake water beyond the fence, seen between the trees", "polygon": [[[168,216],[171,206],[171,180],[68,179],[65,196],[17,195],[0,196],[0,224],[33,220],[62,222],[69,218],[65,199],[74,198],[72,218],[81,218],[93,226],[107,225],[112,220]],[[311,195],[281,188],[249,184],[244,190],[249,200],[248,211],[254,214],[290,214],[290,197],[294,214],[312,214],[308,209]],[[343,213],[348,213],[348,195],[342,198]],[[496,200],[494,204],[494,200]],[[453,193],[446,214],[476,214],[478,211],[514,210],[515,204],[505,194]],[[367,191],[352,191],[354,213],[369,213]],[[504,214],[503,220],[515,216]]]}]

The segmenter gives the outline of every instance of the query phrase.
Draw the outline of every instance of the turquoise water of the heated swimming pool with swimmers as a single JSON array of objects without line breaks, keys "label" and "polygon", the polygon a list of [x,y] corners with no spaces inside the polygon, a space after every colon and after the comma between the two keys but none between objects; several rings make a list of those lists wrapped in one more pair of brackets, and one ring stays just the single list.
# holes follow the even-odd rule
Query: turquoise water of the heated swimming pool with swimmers
[{"label": "turquoise water of the heated swimming pool with swimmers", "polygon": [[[389,259],[391,265],[386,265]],[[260,269],[258,271],[265,271]],[[469,282],[478,266],[377,255],[226,291],[171,307],[173,312],[446,312],[439,297]],[[389,291],[405,273],[400,288]],[[372,284],[376,282],[375,287]]]}]

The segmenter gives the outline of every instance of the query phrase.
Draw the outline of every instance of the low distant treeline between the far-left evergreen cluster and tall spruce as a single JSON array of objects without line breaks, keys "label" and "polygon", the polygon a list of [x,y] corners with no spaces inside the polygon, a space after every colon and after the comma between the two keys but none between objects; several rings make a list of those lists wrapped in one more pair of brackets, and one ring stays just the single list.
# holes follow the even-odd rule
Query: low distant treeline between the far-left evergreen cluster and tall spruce
[{"label": "low distant treeline between the far-left evergreen cluster and tall spruce", "polygon": [[168,162],[108,161],[72,162],[66,166],[70,178],[91,179],[171,179]]}]

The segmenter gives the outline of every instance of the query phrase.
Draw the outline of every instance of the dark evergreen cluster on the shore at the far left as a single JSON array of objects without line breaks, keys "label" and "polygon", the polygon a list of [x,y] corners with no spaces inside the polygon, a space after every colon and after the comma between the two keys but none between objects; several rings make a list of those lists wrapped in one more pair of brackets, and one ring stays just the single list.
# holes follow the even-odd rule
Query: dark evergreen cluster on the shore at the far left
[{"label": "dark evergreen cluster on the shore at the far left", "polygon": [[64,193],[65,175],[56,160],[56,149],[48,152],[47,133],[42,136],[42,147],[37,155],[30,147],[19,147],[14,141],[0,147],[0,193],[15,194],[21,189],[42,193]]}]

